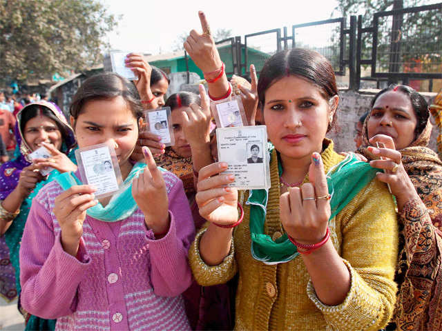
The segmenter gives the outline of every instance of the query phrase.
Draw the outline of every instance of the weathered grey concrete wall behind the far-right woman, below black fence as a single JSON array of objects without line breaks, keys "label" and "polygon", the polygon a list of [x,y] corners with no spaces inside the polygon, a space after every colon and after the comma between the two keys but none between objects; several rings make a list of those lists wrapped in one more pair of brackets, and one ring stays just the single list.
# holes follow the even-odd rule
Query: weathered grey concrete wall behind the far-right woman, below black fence
[{"label": "weathered grey concrete wall behind the far-right woman, below black fence", "polygon": [[[340,90],[338,107],[338,132],[329,132],[327,137],[333,139],[337,151],[353,151],[356,146],[353,141],[355,125],[365,112],[370,110],[370,103],[379,90],[361,90],[354,92]],[[421,93],[428,103],[434,99],[436,93]],[[434,121],[433,121],[434,123]],[[437,128],[433,127],[430,148],[436,152]]]}]

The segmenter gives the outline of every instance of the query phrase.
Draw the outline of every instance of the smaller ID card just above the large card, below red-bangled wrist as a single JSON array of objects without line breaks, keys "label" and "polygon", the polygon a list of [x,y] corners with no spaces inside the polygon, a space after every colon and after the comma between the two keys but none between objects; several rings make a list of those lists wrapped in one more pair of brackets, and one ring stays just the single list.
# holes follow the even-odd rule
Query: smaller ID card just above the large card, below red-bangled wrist
[{"label": "smaller ID card just above the large card, below red-bangled wrist", "polygon": [[233,96],[223,101],[212,101],[211,112],[217,128],[247,126],[247,117],[241,97]]}]

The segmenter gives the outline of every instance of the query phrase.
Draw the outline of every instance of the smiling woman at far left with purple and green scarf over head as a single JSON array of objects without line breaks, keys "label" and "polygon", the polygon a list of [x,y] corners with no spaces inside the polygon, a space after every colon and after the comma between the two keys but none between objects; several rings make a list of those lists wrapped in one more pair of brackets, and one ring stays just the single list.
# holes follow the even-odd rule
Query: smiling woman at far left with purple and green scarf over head
[{"label": "smiling woman at far left with purple and green scarf over head", "polygon": [[[74,132],[63,113],[55,104],[46,101],[31,103],[17,114],[15,130],[20,155],[3,163],[0,168],[1,233],[5,235],[10,250],[10,260],[15,268],[17,292],[20,293],[19,250],[23,229],[28,218],[32,199],[40,188],[60,172],[76,170],[73,147]],[[31,163],[29,154],[45,146],[52,153],[50,159],[36,159]],[[39,169],[50,166],[46,177]],[[21,310],[23,312],[23,310]],[[54,330],[55,320],[40,319],[24,312],[26,330]]]}]

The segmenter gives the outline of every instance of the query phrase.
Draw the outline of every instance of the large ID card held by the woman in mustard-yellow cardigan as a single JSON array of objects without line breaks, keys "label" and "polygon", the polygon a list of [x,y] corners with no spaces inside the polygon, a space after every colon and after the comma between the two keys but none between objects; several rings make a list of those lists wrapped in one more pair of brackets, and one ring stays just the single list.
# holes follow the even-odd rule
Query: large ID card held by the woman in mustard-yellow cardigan
[{"label": "large ID card held by the woman in mustard-yellow cardigan", "polygon": [[234,174],[229,186],[238,190],[270,187],[266,126],[216,129],[218,161],[228,165],[224,173]]}]

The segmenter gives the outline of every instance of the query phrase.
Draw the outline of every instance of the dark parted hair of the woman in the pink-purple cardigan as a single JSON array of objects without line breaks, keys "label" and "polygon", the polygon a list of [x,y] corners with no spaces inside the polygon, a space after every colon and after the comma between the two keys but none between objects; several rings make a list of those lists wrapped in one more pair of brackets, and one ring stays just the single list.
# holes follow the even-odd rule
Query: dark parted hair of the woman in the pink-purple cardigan
[{"label": "dark parted hair of the woman in the pink-purple cardigan", "polygon": [[113,72],[95,74],[86,79],[70,103],[70,116],[77,120],[86,102],[90,100],[106,100],[122,97],[130,106],[136,119],[142,117],[142,104],[137,88],[125,79]]}]

